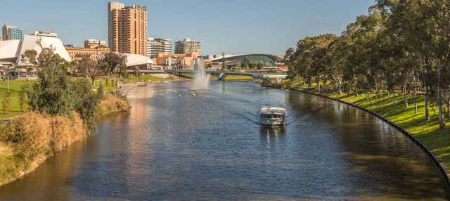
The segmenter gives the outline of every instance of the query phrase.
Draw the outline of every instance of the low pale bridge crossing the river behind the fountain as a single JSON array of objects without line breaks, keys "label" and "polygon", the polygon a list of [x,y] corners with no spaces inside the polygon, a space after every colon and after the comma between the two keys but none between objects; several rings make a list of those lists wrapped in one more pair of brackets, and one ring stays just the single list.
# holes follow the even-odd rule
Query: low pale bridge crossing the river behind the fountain
[{"label": "low pale bridge crossing the river behind the fountain", "polygon": [[[195,74],[196,70],[169,70],[172,74],[184,74],[190,73]],[[276,82],[281,82],[282,79],[288,77],[285,72],[269,72],[269,71],[236,71],[236,70],[207,70],[206,73],[214,74],[217,79],[223,80],[229,75],[245,75],[252,77],[253,79],[262,79],[264,81],[269,81],[269,79],[275,79]]]}]

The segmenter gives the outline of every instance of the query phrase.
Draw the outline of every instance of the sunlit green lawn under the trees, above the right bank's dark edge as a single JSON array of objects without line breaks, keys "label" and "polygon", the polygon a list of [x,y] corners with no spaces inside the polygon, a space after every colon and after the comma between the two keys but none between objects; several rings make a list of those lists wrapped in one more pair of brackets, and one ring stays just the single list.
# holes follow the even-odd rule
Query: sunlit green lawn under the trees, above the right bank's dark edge
[{"label": "sunlit green lawn under the trees, above the right bank's dark edge", "polygon": [[[307,86],[295,86],[293,89],[307,90]],[[316,89],[309,91],[316,93]],[[327,93],[326,95],[363,106],[399,124],[428,146],[439,157],[444,167],[450,169],[450,124],[447,125],[446,129],[439,130],[436,105],[429,105],[430,121],[425,121],[425,103],[423,96],[418,95],[418,113],[415,114],[412,94],[409,95],[408,108],[405,107],[403,94],[396,94],[396,105],[394,105],[393,98],[390,100],[387,97],[387,93],[380,95],[378,100],[376,94],[370,94],[371,104],[366,100],[364,93],[358,96],[354,96],[354,94],[340,95],[337,93]],[[444,107],[445,113],[447,110],[448,108]],[[450,117],[445,115],[445,119],[450,119]]]}]

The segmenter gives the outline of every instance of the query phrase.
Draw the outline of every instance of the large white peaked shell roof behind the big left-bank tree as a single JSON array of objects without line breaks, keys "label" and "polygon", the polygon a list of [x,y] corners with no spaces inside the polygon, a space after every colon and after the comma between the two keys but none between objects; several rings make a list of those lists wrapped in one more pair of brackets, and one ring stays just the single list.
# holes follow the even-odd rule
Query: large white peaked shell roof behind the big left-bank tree
[{"label": "large white peaked shell roof behind the big left-bank tree", "polygon": [[55,53],[57,53],[61,58],[71,61],[68,51],[65,50],[63,42],[54,37],[39,37],[33,35],[25,35],[23,36],[23,41],[20,43],[20,51],[18,51],[18,65],[26,65],[26,63],[22,63],[20,56],[25,53],[27,50],[35,50],[37,51],[37,55],[41,53],[42,49],[39,45],[37,45],[37,41],[41,39],[41,45],[43,48],[55,48]]}]

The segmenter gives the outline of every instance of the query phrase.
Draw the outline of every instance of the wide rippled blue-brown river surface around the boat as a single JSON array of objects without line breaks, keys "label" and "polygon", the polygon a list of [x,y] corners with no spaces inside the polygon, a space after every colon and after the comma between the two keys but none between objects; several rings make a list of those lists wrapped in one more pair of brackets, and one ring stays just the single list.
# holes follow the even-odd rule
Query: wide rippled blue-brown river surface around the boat
[{"label": "wide rippled blue-brown river surface around the boat", "polygon": [[[0,187],[0,200],[446,199],[431,160],[364,111],[251,82],[210,87],[131,90],[131,112]],[[263,105],[288,108],[288,125],[260,126]]]}]

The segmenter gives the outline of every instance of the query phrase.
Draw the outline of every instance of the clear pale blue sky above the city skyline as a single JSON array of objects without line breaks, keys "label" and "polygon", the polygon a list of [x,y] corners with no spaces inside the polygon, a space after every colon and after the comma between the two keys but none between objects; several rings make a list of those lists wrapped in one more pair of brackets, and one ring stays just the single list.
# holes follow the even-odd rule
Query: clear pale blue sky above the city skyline
[{"label": "clear pale blue sky above the city skyline", "polygon": [[[202,54],[283,55],[300,39],[340,34],[375,0],[120,0],[147,6],[148,37],[200,41]],[[52,30],[64,44],[108,40],[107,0],[1,0],[0,25]]]}]

